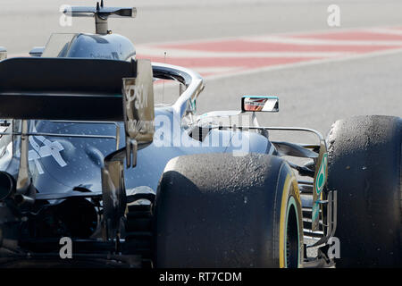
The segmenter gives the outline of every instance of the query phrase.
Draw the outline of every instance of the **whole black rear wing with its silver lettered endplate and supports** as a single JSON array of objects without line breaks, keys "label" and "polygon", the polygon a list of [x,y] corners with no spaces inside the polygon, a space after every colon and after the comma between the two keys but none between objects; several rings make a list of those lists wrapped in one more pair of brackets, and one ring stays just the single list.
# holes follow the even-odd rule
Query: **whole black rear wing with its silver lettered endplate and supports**
[{"label": "whole black rear wing with its silver lettered endplate and supports", "polygon": [[[0,62],[0,118],[20,119],[19,170],[15,202],[34,202],[29,172],[29,120],[124,122],[126,146],[105,156],[101,169],[105,240],[120,237],[126,209],[123,161],[137,164],[137,150],[154,138],[153,69],[131,62],[73,58],[12,58]],[[4,133],[5,134],[5,133]],[[116,248],[118,248],[116,246]]]}]

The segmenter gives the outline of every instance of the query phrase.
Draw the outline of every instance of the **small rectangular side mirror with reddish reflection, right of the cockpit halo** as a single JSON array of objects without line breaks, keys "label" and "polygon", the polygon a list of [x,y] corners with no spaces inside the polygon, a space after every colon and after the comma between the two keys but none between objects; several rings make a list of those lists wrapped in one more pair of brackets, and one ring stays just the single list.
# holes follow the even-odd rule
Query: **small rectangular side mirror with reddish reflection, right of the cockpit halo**
[{"label": "small rectangular side mirror with reddish reflection, right of the cockpit halo", "polygon": [[241,97],[242,112],[279,112],[278,97],[244,96]]}]

